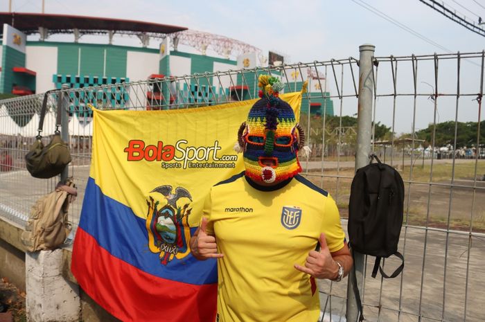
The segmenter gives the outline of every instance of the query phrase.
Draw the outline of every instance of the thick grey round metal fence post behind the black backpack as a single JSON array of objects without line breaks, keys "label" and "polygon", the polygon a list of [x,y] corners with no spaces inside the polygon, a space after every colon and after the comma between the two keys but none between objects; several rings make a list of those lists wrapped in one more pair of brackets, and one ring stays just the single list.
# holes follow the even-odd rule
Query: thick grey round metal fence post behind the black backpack
[{"label": "thick grey round metal fence post behind the black backpack", "polygon": [[[375,46],[363,44],[359,46],[359,98],[358,98],[358,131],[357,150],[355,151],[355,170],[369,163],[372,136],[372,100],[373,100],[373,66],[372,57]],[[353,251],[355,273],[353,269],[349,273],[347,285],[347,308],[346,320],[357,321],[359,317],[358,306],[353,293],[353,274],[357,279],[357,285],[362,298],[362,284],[364,283],[364,255]]]}]

